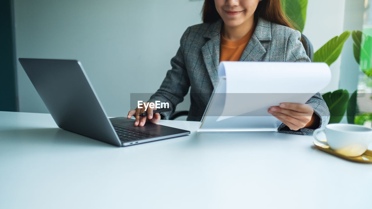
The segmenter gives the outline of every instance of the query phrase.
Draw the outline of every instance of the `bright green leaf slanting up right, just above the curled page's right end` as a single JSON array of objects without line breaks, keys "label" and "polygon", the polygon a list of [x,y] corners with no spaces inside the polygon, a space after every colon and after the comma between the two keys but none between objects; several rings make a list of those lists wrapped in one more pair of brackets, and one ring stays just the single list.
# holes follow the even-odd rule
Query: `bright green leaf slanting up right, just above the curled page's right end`
[{"label": "bright green leaf slanting up right, just above the curled page's right end", "polygon": [[340,56],[344,43],[349,36],[350,31],[347,30],[340,36],[335,36],[329,40],[314,53],[314,62],[325,62],[330,66]]}]

